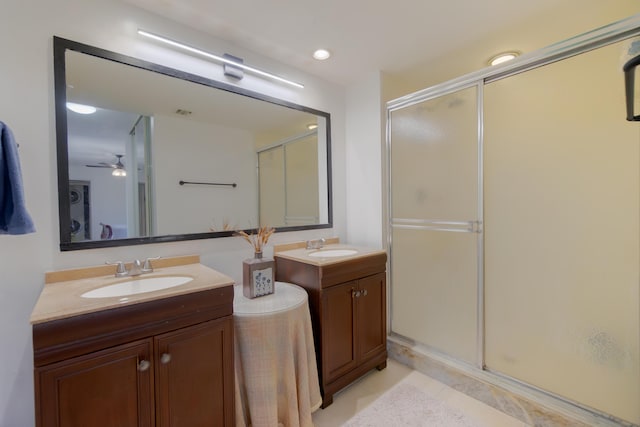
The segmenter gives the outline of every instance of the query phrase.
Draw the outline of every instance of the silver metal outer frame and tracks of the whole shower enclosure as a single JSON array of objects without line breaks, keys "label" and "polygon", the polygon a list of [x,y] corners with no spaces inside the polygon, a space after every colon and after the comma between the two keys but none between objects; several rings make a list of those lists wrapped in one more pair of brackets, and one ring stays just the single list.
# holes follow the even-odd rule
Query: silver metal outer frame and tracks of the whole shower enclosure
[{"label": "silver metal outer frame and tracks of the whole shower enclosure", "polygon": [[[385,149],[383,151],[383,165],[386,168],[383,171],[383,191],[386,196],[386,200],[383,202],[383,221],[384,226],[383,230],[385,232],[384,240],[386,241],[387,250],[389,253],[389,269],[387,271],[387,283],[389,287],[389,298],[388,298],[388,309],[389,316],[388,322],[391,322],[392,319],[392,299],[393,299],[393,282],[391,280],[392,274],[392,263],[393,259],[393,245],[392,245],[392,218],[390,217],[392,212],[392,197],[391,194],[391,112],[399,110],[404,107],[408,107],[414,105],[418,102],[422,102],[428,99],[436,98],[438,96],[461,90],[464,88],[471,87],[473,85],[479,85],[484,87],[485,84],[491,83],[493,81],[497,81],[515,74],[519,74],[534,68],[538,68],[547,64],[551,64],[566,58],[570,58],[572,56],[588,52],[590,50],[594,50],[600,47],[604,47],[622,40],[630,39],[632,37],[640,36],[640,14],[630,16],[626,19],[623,19],[618,22],[614,22],[612,24],[597,28],[593,31],[589,31],[587,33],[569,38],[567,40],[552,44],[546,48],[539,49],[537,51],[527,53],[522,55],[521,57],[509,61],[497,66],[487,67],[476,72],[463,75],[461,77],[455,78],[453,80],[449,80],[447,82],[441,83],[436,86],[428,87],[423,90],[419,90],[414,93],[410,93],[403,97],[388,101],[386,104],[386,138],[385,138]],[[620,65],[620,69],[622,70],[622,64]],[[622,74],[622,72],[621,72]],[[623,80],[621,78],[621,84],[623,84]],[[479,114],[482,114],[483,104],[482,104],[482,92],[478,92],[478,106],[479,106]],[[480,116],[482,117],[482,116]],[[621,116],[621,119],[624,117]],[[483,132],[484,123],[481,121],[479,123],[479,131]],[[479,153],[479,161],[482,161],[482,153]],[[479,169],[481,170],[481,169]],[[482,183],[482,177],[479,179],[479,183]],[[481,185],[481,184],[479,184]],[[479,204],[482,203],[481,195],[483,193],[480,192],[479,196]],[[480,216],[478,220],[480,221],[483,217]],[[483,233],[482,233],[483,235]],[[484,238],[482,239],[484,240]],[[501,386],[506,390],[513,391],[515,393],[519,393],[524,396],[528,396],[533,400],[537,400],[539,402],[543,402],[544,405],[555,408],[561,412],[568,411],[573,413],[574,416],[579,418],[583,418],[586,421],[593,421],[593,418],[589,418],[590,416],[598,417],[598,422],[606,422],[605,420],[610,419],[611,416],[609,414],[605,414],[594,410],[592,408],[586,407],[579,402],[571,401],[562,396],[556,395],[552,392],[542,390],[534,385],[524,383],[516,378],[512,378],[508,375],[501,374],[498,372],[494,372],[491,370],[487,370],[484,360],[485,360],[485,351],[484,351],[484,342],[485,342],[485,331],[484,331],[484,265],[479,265],[479,268],[482,268],[482,280],[479,282],[481,286],[479,286],[479,298],[478,298],[478,317],[482,316],[482,319],[478,320],[478,339],[477,339],[477,349],[478,355],[476,360],[476,366],[470,366],[467,363],[460,361],[458,359],[443,355],[438,351],[428,350],[428,356],[433,359],[440,360],[444,363],[448,363],[451,366],[454,366],[463,372],[466,372],[469,375],[475,376],[483,381],[486,381],[490,384],[496,384]],[[482,288],[482,289],[480,289]],[[480,295],[481,294],[481,295]],[[640,319],[639,319],[640,320]],[[388,325],[389,336],[393,337],[393,325],[389,323]],[[400,336],[400,335],[396,335]],[[401,338],[406,338],[402,337]],[[410,340],[411,341],[411,340]],[[580,410],[582,412],[577,413],[576,411]],[[612,420],[614,423],[619,420]]]}]

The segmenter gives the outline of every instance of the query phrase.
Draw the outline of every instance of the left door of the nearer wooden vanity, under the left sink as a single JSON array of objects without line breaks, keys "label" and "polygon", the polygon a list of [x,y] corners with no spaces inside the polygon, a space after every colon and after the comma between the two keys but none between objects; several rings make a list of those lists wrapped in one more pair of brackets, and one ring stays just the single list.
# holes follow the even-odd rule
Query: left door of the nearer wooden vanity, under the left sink
[{"label": "left door of the nearer wooden vanity, under the left sink", "polygon": [[36,369],[38,425],[152,426],[151,345],[136,341]]}]

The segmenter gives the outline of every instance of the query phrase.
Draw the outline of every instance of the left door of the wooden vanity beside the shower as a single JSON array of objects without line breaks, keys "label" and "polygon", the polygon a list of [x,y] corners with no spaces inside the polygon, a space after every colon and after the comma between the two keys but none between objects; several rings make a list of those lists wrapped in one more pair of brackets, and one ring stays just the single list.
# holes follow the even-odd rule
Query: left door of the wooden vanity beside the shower
[{"label": "left door of the wooden vanity beside the shower", "polygon": [[322,291],[322,375],[328,384],[356,366],[355,292],[357,282]]}]

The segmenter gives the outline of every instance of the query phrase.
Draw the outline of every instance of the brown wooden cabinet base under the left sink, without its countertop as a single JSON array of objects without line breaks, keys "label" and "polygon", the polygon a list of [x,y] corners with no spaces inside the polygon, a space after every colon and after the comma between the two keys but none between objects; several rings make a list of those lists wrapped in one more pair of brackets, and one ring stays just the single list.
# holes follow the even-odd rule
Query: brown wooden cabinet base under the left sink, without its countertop
[{"label": "brown wooden cabinet base under the left sink, without its countertop", "polygon": [[33,326],[36,425],[233,426],[233,286]]}]

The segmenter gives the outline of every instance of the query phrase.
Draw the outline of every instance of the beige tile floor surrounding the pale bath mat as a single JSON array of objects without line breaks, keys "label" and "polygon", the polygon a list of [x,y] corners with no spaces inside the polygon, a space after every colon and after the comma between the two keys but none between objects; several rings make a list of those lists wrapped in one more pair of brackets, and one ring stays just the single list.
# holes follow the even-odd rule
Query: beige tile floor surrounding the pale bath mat
[{"label": "beige tile floor surrounding the pale bath mat", "polygon": [[[525,427],[519,421],[473,399],[453,388],[436,381],[418,371],[388,359],[387,368],[372,370],[360,380],[336,393],[333,404],[326,409],[318,409],[313,414],[315,427],[337,427],[376,400],[403,379],[422,388],[434,397],[442,399],[448,406],[458,409],[480,426],[486,427]],[[381,426],[382,427],[382,426]],[[384,426],[391,427],[391,426]]]}]

